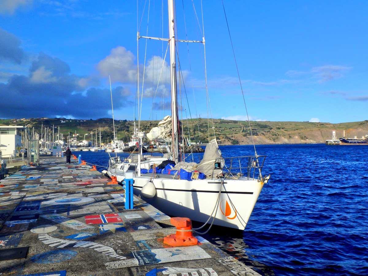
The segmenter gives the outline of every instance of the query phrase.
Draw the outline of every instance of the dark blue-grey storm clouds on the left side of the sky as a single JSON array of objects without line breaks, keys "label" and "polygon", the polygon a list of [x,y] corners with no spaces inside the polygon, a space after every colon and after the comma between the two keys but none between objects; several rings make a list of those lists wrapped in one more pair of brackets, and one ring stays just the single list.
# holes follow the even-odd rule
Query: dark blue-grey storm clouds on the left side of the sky
[{"label": "dark blue-grey storm clouds on the left side of the sky", "polygon": [[[24,57],[20,40],[0,29],[0,61],[20,64]],[[92,85],[98,85],[98,81],[71,74],[67,63],[40,53],[29,67],[28,76],[13,75],[7,83],[0,83],[0,118],[106,117],[111,110],[110,90]],[[128,94],[122,86],[114,88],[114,108],[127,105]]]}]

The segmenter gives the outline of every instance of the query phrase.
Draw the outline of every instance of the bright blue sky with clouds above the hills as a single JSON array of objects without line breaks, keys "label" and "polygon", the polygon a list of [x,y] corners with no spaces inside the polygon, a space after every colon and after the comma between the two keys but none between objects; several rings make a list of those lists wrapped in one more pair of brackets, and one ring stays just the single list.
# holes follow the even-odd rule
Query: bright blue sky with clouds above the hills
[{"label": "bright blue sky with clouds above the hills", "polygon": [[[140,34],[148,25],[148,36],[167,37],[166,1],[138,2]],[[201,2],[195,12],[192,1],[176,2],[178,38],[202,40]],[[368,119],[367,1],[224,4],[251,120]],[[221,1],[203,1],[203,13],[212,116],[245,119]],[[156,119],[170,112],[169,55],[163,63],[166,43],[148,40],[146,52],[145,43],[139,40],[141,114]],[[178,52],[189,102],[181,84],[183,117],[189,109],[207,117],[203,45],[179,43]],[[1,118],[109,117],[111,75],[114,115],[131,120],[136,72],[135,1],[0,2]]]}]

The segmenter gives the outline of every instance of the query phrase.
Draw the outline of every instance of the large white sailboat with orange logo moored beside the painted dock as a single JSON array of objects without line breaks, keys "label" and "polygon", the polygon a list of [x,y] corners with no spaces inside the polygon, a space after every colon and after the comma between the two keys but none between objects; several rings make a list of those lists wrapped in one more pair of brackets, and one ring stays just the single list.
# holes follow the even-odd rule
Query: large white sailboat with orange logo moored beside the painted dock
[{"label": "large white sailboat with orange logo moored beside the painted dock", "polygon": [[[213,139],[206,146],[199,164],[180,162],[176,43],[183,40],[176,38],[173,0],[168,0],[168,10],[169,38],[159,40],[168,41],[170,46],[171,117],[165,117],[163,121],[171,123],[159,124],[147,136],[170,142],[169,157],[144,157],[141,151],[121,163],[111,158],[109,169],[104,172],[116,176],[119,182],[124,180],[126,173],[132,173],[134,194],[168,215],[244,230],[262,187],[269,179],[269,176],[262,176],[265,156],[258,156],[255,152],[254,156],[223,158],[216,139]],[[139,33],[138,38],[158,39],[143,37]],[[140,145],[144,137],[145,132],[138,132]],[[174,163],[172,172],[169,169],[169,174],[158,173],[157,168],[168,160]],[[152,173],[142,173],[145,171],[142,169]],[[199,179],[197,171],[205,178]]]}]

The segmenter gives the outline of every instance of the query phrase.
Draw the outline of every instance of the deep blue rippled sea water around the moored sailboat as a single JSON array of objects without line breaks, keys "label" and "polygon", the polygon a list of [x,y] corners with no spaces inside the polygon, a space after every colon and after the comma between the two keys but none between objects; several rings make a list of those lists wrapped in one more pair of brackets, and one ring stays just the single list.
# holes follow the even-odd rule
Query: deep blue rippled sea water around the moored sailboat
[{"label": "deep blue rippled sea water around the moored sailboat", "polygon": [[[220,149],[224,157],[254,153]],[[215,227],[206,238],[262,275],[368,275],[368,146],[256,149],[268,156],[262,172],[271,178],[245,231]],[[80,153],[107,165],[108,153]]]}]

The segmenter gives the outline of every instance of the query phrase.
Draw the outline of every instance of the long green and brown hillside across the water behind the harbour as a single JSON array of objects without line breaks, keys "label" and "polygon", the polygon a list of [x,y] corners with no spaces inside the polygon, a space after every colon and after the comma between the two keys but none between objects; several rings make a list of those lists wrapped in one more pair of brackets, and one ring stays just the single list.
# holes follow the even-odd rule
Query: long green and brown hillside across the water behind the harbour
[{"label": "long green and brown hillside across the water behind the harbour", "polygon": [[[133,121],[115,120],[117,138],[128,141],[134,130]],[[336,130],[337,137],[361,137],[368,134],[368,120],[350,123],[309,123],[309,122],[274,122],[274,121],[251,121],[252,134],[256,144],[291,144],[291,143],[321,143],[331,139],[332,130]],[[158,121],[142,121],[141,130],[147,132],[157,126]],[[216,138],[224,145],[251,144],[251,132],[248,121],[234,121],[214,119]],[[84,134],[86,139],[91,139],[91,131],[101,128],[101,140],[103,142],[113,139],[113,120],[111,118],[100,118],[97,120],[75,120],[67,118],[29,118],[29,119],[0,119],[0,125],[28,125],[40,132],[41,126],[55,131],[60,127],[60,132],[66,138],[68,133],[79,134],[82,140]],[[185,137],[190,137],[193,142],[207,142],[213,139],[212,121],[204,118],[182,121]],[[189,133],[189,135],[188,135]]]}]

